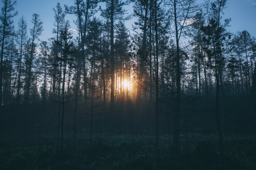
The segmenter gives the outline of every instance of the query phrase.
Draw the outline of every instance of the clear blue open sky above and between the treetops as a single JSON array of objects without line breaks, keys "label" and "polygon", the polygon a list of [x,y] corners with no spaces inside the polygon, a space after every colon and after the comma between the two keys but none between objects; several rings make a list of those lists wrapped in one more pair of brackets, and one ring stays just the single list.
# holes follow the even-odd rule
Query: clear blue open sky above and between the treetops
[{"label": "clear blue open sky above and between the treetops", "polygon": [[[15,29],[18,29],[18,20],[21,16],[24,16],[28,22],[29,29],[33,26],[31,23],[32,14],[38,13],[43,21],[44,31],[40,36],[41,40],[48,40],[52,37],[52,30],[54,28],[54,11],[53,8],[60,2],[63,7],[64,4],[70,6],[73,5],[73,0],[17,0],[15,9],[18,11],[18,16],[14,18]],[[0,3],[2,8],[3,3]],[[236,33],[237,31],[247,30],[252,36],[256,37],[256,0],[228,0],[226,9],[224,9],[223,19],[231,18],[228,31]],[[132,5],[126,6],[129,11],[132,11]],[[71,29],[76,29],[73,23],[75,20],[74,15],[67,15],[67,20],[70,21]],[[126,26],[132,24],[132,21],[128,21]]]}]

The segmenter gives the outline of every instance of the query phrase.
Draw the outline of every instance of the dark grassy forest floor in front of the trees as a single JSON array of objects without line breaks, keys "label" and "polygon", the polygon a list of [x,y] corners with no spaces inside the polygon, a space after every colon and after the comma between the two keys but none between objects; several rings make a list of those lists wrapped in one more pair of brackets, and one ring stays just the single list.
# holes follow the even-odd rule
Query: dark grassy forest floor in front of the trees
[{"label": "dark grassy forest floor in front of the trees", "polygon": [[[56,135],[1,137],[0,169],[256,169],[256,136],[225,134],[224,156],[216,134],[181,135],[181,154],[173,158],[172,136],[160,135],[160,155],[155,156],[154,133],[72,134],[56,149]],[[35,134],[36,135],[36,134]]]}]

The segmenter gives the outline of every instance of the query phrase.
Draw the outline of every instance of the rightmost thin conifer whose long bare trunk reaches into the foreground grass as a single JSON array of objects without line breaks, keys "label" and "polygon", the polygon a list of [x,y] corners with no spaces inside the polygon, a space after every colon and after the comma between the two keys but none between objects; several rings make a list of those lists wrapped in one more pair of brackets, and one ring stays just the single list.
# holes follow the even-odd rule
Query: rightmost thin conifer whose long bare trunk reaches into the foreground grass
[{"label": "rightmost thin conifer whose long bare trunk reaches into the foreground grass", "polygon": [[[211,12],[209,17],[209,23],[207,26],[202,27],[204,33],[203,41],[207,44],[207,54],[209,58],[214,59],[214,63],[211,63],[211,67],[214,70],[214,76],[216,80],[216,121],[217,131],[219,133],[219,145],[221,155],[224,154],[223,148],[223,135],[221,128],[220,118],[220,88],[222,80],[222,67],[223,67],[223,51],[224,44],[230,35],[225,31],[225,27],[228,25],[230,19],[226,19],[224,25],[221,25],[221,12],[225,8],[226,0],[217,0],[211,4]],[[214,64],[214,65],[213,65]],[[223,90],[222,90],[223,93]]]}]

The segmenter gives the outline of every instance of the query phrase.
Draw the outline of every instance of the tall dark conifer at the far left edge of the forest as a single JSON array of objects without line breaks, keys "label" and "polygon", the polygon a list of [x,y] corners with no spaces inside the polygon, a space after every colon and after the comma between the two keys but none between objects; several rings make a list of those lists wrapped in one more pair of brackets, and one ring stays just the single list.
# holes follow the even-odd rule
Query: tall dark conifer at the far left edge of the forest
[{"label": "tall dark conifer at the far left edge of the forest", "polygon": [[3,104],[3,58],[4,58],[4,46],[5,39],[13,34],[14,26],[12,25],[14,22],[11,20],[17,15],[17,12],[12,13],[14,11],[14,6],[16,5],[16,1],[12,2],[11,0],[2,0],[4,7],[1,10],[1,61],[0,61],[0,106]]}]

